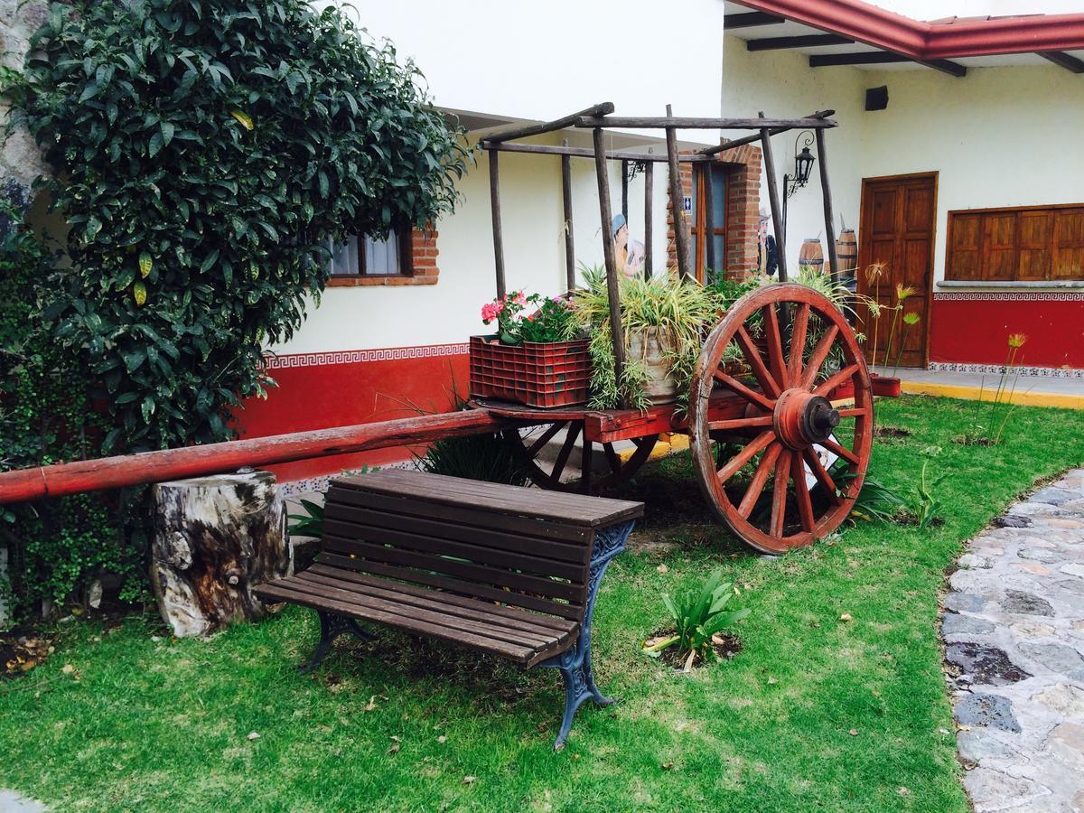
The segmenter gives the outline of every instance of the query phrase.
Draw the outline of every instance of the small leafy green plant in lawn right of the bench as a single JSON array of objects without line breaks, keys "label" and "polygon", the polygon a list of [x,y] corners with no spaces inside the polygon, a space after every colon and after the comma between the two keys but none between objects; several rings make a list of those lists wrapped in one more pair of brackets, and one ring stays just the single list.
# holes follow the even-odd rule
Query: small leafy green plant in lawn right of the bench
[{"label": "small leafy green plant in lawn right of the bench", "polygon": [[670,616],[676,624],[673,634],[648,641],[643,651],[658,658],[663,650],[676,646],[685,663],[685,671],[693,669],[697,658],[702,662],[715,660],[713,641],[724,629],[749,615],[749,608],[726,610],[726,605],[737,595],[732,582],[723,581],[722,570],[715,570],[700,590],[691,590],[678,601],[668,593],[662,594]]}]

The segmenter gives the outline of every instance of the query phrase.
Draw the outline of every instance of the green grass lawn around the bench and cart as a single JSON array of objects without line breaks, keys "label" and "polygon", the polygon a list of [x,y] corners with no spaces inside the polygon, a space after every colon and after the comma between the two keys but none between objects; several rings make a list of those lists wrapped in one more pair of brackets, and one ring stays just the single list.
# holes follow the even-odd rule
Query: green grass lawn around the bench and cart
[{"label": "green grass lawn around the bench and cart", "polygon": [[[55,655],[0,683],[0,787],[56,810],[966,811],[935,625],[946,570],[1015,495],[1084,463],[1084,413],[1020,408],[1001,446],[954,443],[976,410],[878,403],[879,425],[913,435],[879,438],[873,472],[947,473],[944,525],[860,524],[782,558],[708,521],[687,455],[645,468],[622,493],[648,501],[642,544],[595,615],[598,681],[621,702],[585,705],[562,752],[552,670],[379,630],[301,676],[311,611],[210,641],[130,617],[63,625]],[[752,608],[743,650],[692,674],[642,656],[659,593],[719,566]]]}]

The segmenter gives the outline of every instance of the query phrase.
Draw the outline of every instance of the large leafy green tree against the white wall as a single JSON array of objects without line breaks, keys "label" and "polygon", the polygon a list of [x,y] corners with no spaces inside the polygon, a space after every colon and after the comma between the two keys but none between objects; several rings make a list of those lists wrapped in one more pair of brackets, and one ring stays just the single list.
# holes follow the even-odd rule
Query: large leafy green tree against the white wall
[{"label": "large leafy green tree against the white wall", "polygon": [[55,2],[16,107],[72,261],[47,308],[104,384],[104,451],[222,440],[328,241],[450,211],[467,153],[422,76],[304,0]]}]

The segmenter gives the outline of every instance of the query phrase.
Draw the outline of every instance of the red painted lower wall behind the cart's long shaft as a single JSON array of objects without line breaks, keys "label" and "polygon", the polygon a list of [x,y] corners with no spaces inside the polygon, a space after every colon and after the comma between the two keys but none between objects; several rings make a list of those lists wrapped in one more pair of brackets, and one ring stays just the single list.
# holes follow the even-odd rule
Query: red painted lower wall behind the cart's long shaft
[{"label": "red painted lower wall behind the cart's long shaft", "polygon": [[[243,438],[448,412],[466,396],[466,345],[305,353],[270,359],[279,386],[236,414]],[[403,447],[272,466],[280,482],[410,457]]]}]

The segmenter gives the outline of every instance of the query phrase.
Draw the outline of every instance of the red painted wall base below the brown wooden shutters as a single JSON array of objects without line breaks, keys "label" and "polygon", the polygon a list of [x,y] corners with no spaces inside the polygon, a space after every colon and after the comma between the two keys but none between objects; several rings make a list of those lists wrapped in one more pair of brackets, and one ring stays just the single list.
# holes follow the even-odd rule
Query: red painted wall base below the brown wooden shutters
[{"label": "red painted wall base below the brown wooden shutters", "polygon": [[1004,364],[1012,333],[1028,337],[1017,363],[1084,367],[1084,294],[939,294],[930,361]]}]

